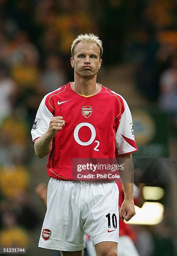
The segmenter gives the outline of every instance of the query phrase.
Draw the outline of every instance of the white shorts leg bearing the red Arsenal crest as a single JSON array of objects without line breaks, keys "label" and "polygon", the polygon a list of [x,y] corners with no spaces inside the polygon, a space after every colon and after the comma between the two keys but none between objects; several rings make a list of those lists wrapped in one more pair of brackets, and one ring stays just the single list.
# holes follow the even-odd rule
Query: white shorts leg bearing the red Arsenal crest
[{"label": "white shorts leg bearing the red Arsenal crest", "polygon": [[83,220],[80,218],[79,186],[80,182],[75,184],[53,178],[49,181],[48,208],[39,247],[71,252],[85,248]]}]

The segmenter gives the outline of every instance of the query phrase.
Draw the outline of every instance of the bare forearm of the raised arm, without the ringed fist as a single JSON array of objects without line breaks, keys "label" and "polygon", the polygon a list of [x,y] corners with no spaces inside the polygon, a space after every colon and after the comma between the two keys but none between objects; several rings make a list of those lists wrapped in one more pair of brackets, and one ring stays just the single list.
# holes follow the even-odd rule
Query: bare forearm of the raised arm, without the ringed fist
[{"label": "bare forearm of the raised arm, without the ringed fist", "polygon": [[35,154],[39,158],[43,158],[48,155],[52,150],[52,139],[53,137],[49,136],[48,131],[46,131],[43,136],[38,138],[34,143]]}]

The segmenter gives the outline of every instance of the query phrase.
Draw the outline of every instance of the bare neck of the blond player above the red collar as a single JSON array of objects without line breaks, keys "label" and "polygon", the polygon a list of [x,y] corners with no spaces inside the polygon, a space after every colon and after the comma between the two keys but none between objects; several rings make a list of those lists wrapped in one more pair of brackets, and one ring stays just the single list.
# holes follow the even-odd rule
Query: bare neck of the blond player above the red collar
[{"label": "bare neck of the blond player above the red collar", "polygon": [[85,79],[79,77],[71,84],[71,88],[74,92],[81,94],[81,95],[94,95],[101,91],[101,87],[96,84],[96,77],[94,79]]}]

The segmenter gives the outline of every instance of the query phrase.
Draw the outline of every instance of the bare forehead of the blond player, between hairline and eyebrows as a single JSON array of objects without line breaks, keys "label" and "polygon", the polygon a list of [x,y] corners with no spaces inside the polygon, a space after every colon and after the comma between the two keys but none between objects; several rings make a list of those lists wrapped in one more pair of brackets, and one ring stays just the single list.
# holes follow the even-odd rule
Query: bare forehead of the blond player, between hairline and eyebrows
[{"label": "bare forehead of the blond player, between hairline and eyebrows", "polygon": [[83,43],[79,42],[74,50],[75,54],[79,53],[92,53],[92,54],[97,54],[99,56],[100,54],[100,49],[99,46],[95,43]]}]

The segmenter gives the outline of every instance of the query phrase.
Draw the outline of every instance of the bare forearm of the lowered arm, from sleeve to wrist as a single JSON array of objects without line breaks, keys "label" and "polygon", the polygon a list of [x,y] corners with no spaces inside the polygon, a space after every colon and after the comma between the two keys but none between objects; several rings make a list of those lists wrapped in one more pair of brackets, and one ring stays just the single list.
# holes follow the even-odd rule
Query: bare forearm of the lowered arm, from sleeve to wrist
[{"label": "bare forearm of the lowered arm, from sleeve to wrist", "polygon": [[134,186],[133,186],[133,162],[131,154],[119,156],[119,162],[124,164],[124,169],[119,170],[119,175],[124,190],[124,197],[126,200],[134,199]]}]

